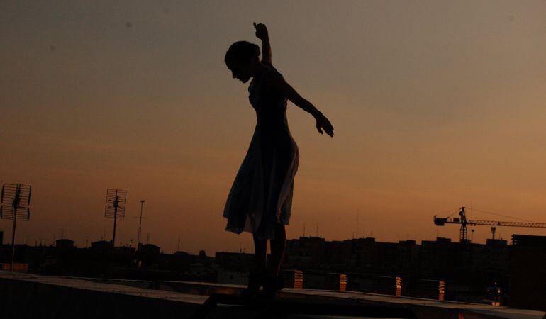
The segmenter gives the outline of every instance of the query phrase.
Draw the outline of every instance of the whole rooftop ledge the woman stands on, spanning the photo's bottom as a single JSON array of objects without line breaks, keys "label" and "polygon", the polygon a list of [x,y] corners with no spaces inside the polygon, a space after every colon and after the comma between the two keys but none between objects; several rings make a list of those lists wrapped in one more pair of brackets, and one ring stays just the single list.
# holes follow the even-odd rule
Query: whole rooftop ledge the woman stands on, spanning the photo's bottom
[{"label": "whole rooftop ledge the woman stands on, spanning the photo's bottom", "polygon": [[[283,289],[266,309],[258,304],[243,306],[238,298],[243,288],[186,281],[72,278],[0,271],[0,309],[4,318],[55,319],[257,318],[256,315],[264,313],[269,317],[260,318],[545,318],[544,312],[536,310],[312,289]],[[204,306],[213,294],[216,300],[209,300]],[[276,316],[280,313],[282,316]]]}]

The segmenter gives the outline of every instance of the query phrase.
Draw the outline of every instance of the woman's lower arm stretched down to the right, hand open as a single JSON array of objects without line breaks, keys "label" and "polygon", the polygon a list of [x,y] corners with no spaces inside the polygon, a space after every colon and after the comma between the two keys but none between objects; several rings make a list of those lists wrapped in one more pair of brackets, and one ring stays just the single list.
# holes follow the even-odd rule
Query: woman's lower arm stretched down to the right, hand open
[{"label": "woman's lower arm stretched down to the right, hand open", "polygon": [[313,118],[315,118],[318,133],[322,134],[322,130],[324,130],[326,134],[330,135],[331,137],[334,136],[334,127],[328,118],[326,118],[321,111],[318,111],[318,109],[313,106],[311,102],[303,99],[303,97],[301,97],[301,95],[299,95],[298,92],[296,92],[296,90],[290,86],[290,84],[286,83],[282,77],[273,77],[271,79],[271,85],[275,91],[285,96],[286,99],[289,99],[292,103],[296,104],[296,106],[303,109],[303,111],[310,113]]}]

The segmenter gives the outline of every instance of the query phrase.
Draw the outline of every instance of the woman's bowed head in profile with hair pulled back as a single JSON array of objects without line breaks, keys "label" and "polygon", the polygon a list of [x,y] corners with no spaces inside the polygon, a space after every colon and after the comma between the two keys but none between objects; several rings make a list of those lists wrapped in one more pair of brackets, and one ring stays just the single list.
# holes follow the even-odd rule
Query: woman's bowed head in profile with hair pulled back
[{"label": "woman's bowed head in profile with hair pulled back", "polygon": [[235,42],[225,52],[224,62],[233,77],[245,83],[252,77],[255,65],[260,62],[260,47],[247,41]]}]

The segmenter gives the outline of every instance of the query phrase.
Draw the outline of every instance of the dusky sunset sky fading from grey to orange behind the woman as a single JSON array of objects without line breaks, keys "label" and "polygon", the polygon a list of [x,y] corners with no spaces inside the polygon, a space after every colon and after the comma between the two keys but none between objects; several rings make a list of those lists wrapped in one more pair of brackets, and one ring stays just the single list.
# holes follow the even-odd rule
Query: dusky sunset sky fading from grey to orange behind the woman
[{"label": "dusky sunset sky fading from grey to orange behind the woman", "polygon": [[[225,199],[255,127],[223,55],[265,23],[299,145],[290,238],[458,237],[472,206],[546,222],[546,1],[0,1],[0,182],[33,186],[16,242],[252,252]],[[476,219],[513,220],[469,211]],[[11,221],[0,220],[4,241]],[[365,232],[365,233],[364,233]],[[498,228],[497,235],[546,235]],[[491,233],[477,227],[475,242]]]}]

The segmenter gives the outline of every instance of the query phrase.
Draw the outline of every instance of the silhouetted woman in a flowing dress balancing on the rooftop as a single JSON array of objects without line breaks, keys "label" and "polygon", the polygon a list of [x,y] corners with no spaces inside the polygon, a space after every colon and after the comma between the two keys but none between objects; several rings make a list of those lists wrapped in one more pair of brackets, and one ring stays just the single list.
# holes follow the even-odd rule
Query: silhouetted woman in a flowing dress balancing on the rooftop
[{"label": "silhouetted woman in a flowing dress balancing on the rooftop", "polygon": [[[256,264],[250,272],[247,296],[263,286],[265,296],[273,296],[282,289],[279,276],[286,230],[292,205],[294,176],[298,169],[299,152],[286,121],[286,100],[311,113],[319,133],[333,136],[333,126],[313,104],[303,99],[272,65],[267,28],[256,25],[260,47],[239,41],[225,53],[225,64],[233,78],[246,83],[252,78],[248,91],[250,104],[256,111],[257,124],[243,164],[235,177],[223,216],[225,228],[233,233],[244,231],[254,238]],[[270,240],[271,259],[266,262],[267,240]]]}]

